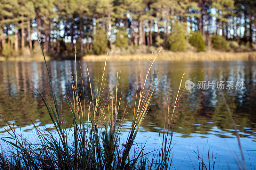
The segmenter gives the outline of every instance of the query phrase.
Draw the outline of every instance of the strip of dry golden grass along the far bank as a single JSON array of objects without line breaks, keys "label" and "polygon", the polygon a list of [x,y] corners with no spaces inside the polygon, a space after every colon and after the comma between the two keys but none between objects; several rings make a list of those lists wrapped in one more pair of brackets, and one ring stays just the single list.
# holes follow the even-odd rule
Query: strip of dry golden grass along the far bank
[{"label": "strip of dry golden grass along the far bank", "polygon": [[[106,55],[85,55],[81,57],[83,61],[89,62],[105,62]],[[108,55],[108,61],[150,61],[152,57],[155,57],[156,53],[143,53],[143,54],[128,54],[128,55]],[[53,61],[50,56],[45,56],[46,61]],[[75,59],[75,58],[74,58]],[[66,60],[62,58],[62,60]],[[161,51],[156,58],[159,61],[256,61],[256,51],[252,52],[220,52],[220,51],[208,51],[208,52],[172,52]],[[0,61],[18,61],[18,62],[42,62],[42,57],[36,56],[30,57],[9,57],[7,60],[5,57],[0,56]]]}]

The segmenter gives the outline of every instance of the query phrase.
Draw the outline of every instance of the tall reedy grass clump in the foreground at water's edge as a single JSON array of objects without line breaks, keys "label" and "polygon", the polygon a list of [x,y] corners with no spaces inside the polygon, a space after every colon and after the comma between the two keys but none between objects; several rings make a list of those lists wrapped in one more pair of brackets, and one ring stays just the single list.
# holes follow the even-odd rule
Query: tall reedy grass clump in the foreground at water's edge
[{"label": "tall reedy grass clump in the foreground at water's edge", "polygon": [[[41,46],[42,48],[42,46]],[[160,51],[159,51],[160,52]],[[44,52],[43,52],[44,55]],[[158,55],[158,54],[157,54]],[[156,55],[156,57],[157,57]],[[160,147],[150,153],[144,152],[144,146],[138,152],[133,152],[139,146],[135,143],[138,130],[147,115],[152,93],[155,85],[151,82],[149,88],[146,81],[150,76],[150,70],[156,57],[150,61],[146,76],[138,75],[137,97],[135,104],[124,111],[119,110],[121,98],[117,97],[119,78],[116,75],[116,91],[114,98],[102,97],[106,80],[106,62],[103,66],[103,74],[98,81],[97,92],[93,93],[89,71],[91,95],[85,104],[81,101],[84,89],[77,91],[77,77],[73,75],[73,97],[66,95],[67,104],[72,114],[71,127],[65,122],[61,105],[55,95],[52,80],[48,72],[51,85],[52,101],[47,101],[37,91],[49,116],[54,130],[44,131],[38,128],[32,121],[36,130],[36,140],[29,140],[17,132],[12,123],[4,121],[8,125],[8,137],[1,137],[1,141],[9,146],[8,150],[1,150],[0,168],[2,169],[170,169],[172,163],[172,137],[176,122],[179,91],[174,103],[174,109],[169,111],[166,104],[166,117],[163,137],[160,138]],[[45,57],[44,57],[45,59]],[[144,81],[143,81],[143,80]],[[83,82],[83,81],[82,81]],[[139,84],[141,86],[139,86]],[[181,83],[180,83],[181,86]],[[180,90],[180,88],[179,88]],[[53,103],[53,104],[51,104]],[[62,103],[63,105],[63,103]],[[127,113],[133,114],[132,124],[127,136],[122,136],[121,129]]]}]

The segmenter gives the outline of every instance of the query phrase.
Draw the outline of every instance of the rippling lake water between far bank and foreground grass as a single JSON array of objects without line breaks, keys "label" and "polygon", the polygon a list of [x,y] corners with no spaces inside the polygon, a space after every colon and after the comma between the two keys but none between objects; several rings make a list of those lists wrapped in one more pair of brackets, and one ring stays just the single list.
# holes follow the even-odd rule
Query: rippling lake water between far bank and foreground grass
[{"label": "rippling lake water between far bank and foreground grass", "polygon": [[[101,62],[77,62],[78,92],[84,86],[85,96],[90,97],[89,79],[86,70],[88,67],[92,88],[96,92],[98,79],[101,78],[104,63]],[[119,96],[122,103],[120,111],[133,106],[137,91],[138,75],[145,77],[149,62],[107,62],[107,77],[105,93],[103,96],[112,97],[115,94],[116,73],[120,73]],[[72,74],[75,75],[74,61],[48,62],[50,75],[58,99],[65,103],[65,93],[72,93]],[[173,108],[175,98],[180,85],[182,75],[185,73],[181,91],[177,122],[173,137],[173,166],[180,169],[194,169],[198,167],[197,158],[191,152],[192,149],[204,155],[207,162],[207,145],[213,155],[216,154],[215,168],[238,169],[234,158],[241,159],[238,142],[233,124],[228,115],[221,95],[223,94],[231,109],[232,117],[239,131],[242,150],[246,167],[256,168],[256,62],[232,61],[232,62],[166,62],[157,61],[154,71],[149,74],[146,87],[151,83],[156,84],[152,96],[150,108],[137,135],[136,141],[148,144],[146,150],[153,150],[159,143],[159,135],[164,127],[165,108],[168,96],[170,108]],[[81,76],[83,79],[81,79]],[[195,87],[186,90],[185,81],[195,83]],[[210,86],[208,86],[210,81]],[[220,83],[224,84],[224,89]],[[200,83],[201,82],[201,83]],[[240,83],[239,85],[236,85]],[[205,83],[205,88],[202,88]],[[219,85],[218,85],[219,83]],[[61,85],[61,86],[60,86]],[[217,86],[218,85],[218,86]],[[61,88],[60,88],[61,87]],[[36,89],[51,95],[48,84],[48,75],[44,63],[40,62],[0,62],[0,113],[8,121],[12,121],[15,127],[19,127],[24,135],[33,136],[33,127],[28,117],[37,126],[44,128],[51,123],[47,110],[42,100],[31,93]],[[60,92],[61,89],[61,92]],[[122,93],[121,93],[122,90]],[[87,97],[86,97],[87,98]],[[85,99],[86,100],[86,99]],[[66,121],[71,115],[63,112]],[[124,136],[131,125],[132,114],[126,116],[123,126]],[[0,121],[1,136],[6,136],[4,130],[7,126]],[[48,129],[45,129],[48,130]],[[160,134],[159,134],[160,131]],[[192,149],[191,149],[192,148]],[[193,163],[193,165],[192,165]]]}]

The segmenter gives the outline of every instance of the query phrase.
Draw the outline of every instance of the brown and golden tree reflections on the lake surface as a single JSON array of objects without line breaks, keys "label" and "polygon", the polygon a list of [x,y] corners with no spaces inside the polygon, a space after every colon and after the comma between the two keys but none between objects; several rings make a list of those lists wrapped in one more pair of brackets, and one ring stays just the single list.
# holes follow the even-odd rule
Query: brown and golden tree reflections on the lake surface
[{"label": "brown and golden tree reflections on the lake surface", "polygon": [[[104,63],[78,61],[53,61],[48,62],[54,90],[59,102],[65,103],[66,96],[72,95],[72,77],[77,72],[78,92],[84,93],[84,100],[91,100],[88,67],[92,89],[97,90],[98,79],[101,78]],[[126,102],[128,107],[135,102],[137,88],[140,90],[144,75],[149,63],[140,62],[108,62],[107,78],[104,88],[104,97],[114,97],[116,89],[116,74],[120,73],[119,93],[122,98],[120,111],[124,111]],[[244,81],[242,89],[196,89],[184,90],[180,98],[178,117],[175,132],[179,137],[218,137],[228,140],[234,138],[235,132],[228,116],[227,108],[222,101],[221,94],[226,100],[232,116],[236,122],[241,137],[255,141],[256,135],[256,63],[253,61],[234,62],[163,62],[154,64],[146,83],[148,88],[151,83],[156,84],[151,100],[148,115],[142,123],[144,132],[158,132],[164,127],[164,116],[168,95],[169,106],[173,106],[182,75],[182,87],[186,80],[198,81]],[[139,87],[138,87],[139,85]],[[49,99],[51,88],[44,63],[37,62],[0,62],[0,113],[7,119],[15,122],[17,127],[27,127],[31,124],[28,117],[38,122],[38,126],[51,123],[42,100],[37,99],[38,89],[44,97]],[[121,90],[122,89],[122,90]],[[183,90],[183,89],[182,89]],[[121,94],[122,92],[122,94]],[[66,117],[71,114],[68,106],[61,108]],[[156,115],[157,113],[157,115]],[[132,119],[128,114],[126,121]],[[66,118],[67,121],[72,120]],[[72,123],[72,122],[68,122]],[[0,128],[6,124],[0,121]],[[27,129],[29,131],[29,129]],[[1,131],[3,132],[3,131]],[[208,136],[207,136],[208,135]],[[210,139],[209,139],[210,140]],[[251,148],[252,149],[252,148]]]}]

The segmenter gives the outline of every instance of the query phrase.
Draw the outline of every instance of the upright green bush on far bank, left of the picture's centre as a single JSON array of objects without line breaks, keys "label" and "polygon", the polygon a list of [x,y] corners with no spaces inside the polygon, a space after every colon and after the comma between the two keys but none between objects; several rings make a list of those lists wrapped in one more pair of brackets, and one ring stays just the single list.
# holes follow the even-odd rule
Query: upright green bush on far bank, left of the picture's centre
[{"label": "upright green bush on far bank, left of the picture's centre", "polygon": [[95,34],[93,34],[92,38],[92,50],[94,53],[97,55],[106,53],[108,48],[108,40],[105,29],[99,28],[95,30]]}]

